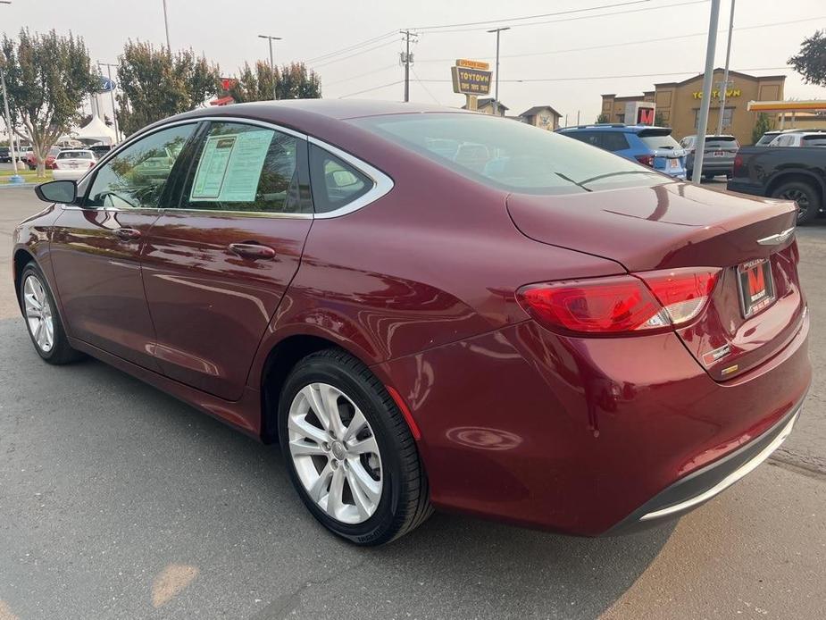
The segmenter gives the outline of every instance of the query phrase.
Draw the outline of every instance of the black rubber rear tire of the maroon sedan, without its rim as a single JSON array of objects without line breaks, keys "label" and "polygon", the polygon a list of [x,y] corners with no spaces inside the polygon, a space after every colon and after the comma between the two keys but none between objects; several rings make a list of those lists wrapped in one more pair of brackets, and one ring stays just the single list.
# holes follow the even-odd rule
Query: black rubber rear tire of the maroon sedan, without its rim
[{"label": "black rubber rear tire of the maroon sedan, without its rim", "polygon": [[[379,444],[383,486],[376,512],[362,524],[343,524],[327,515],[304,488],[298,478],[292,456],[289,452],[288,413],[293,398],[310,383],[328,383],[343,391],[352,399],[367,418]],[[380,395],[375,393],[367,381],[349,368],[337,364],[330,358],[310,356],[300,362],[289,375],[281,390],[279,401],[279,440],[290,481],[296,487],[305,506],[328,529],[358,544],[380,544],[392,538],[396,524],[396,512],[403,493],[402,468],[398,458],[399,447],[396,437],[388,428],[388,412]],[[389,535],[388,535],[389,533]]]}]

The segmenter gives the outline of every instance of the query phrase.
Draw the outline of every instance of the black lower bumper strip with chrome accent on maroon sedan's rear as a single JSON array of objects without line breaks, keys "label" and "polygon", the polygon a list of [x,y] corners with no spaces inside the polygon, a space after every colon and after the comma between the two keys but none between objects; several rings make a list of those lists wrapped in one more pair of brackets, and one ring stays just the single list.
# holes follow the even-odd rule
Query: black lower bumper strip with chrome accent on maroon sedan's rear
[{"label": "black lower bumper strip with chrome accent on maroon sedan's rear", "polygon": [[711,465],[674,482],[641,507],[628,515],[608,532],[607,536],[637,532],[670,521],[713,499],[732,484],[755,470],[788,438],[800,415],[798,405],[757,439]]}]

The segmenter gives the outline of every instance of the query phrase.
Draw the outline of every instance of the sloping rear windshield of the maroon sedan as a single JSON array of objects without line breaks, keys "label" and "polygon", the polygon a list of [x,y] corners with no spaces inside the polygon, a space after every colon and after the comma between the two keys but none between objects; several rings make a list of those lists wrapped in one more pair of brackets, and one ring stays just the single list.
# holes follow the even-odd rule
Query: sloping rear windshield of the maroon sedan
[{"label": "sloping rear windshield of the maroon sedan", "polygon": [[388,114],[351,122],[506,191],[570,194],[664,182],[657,172],[601,148],[486,114]]}]

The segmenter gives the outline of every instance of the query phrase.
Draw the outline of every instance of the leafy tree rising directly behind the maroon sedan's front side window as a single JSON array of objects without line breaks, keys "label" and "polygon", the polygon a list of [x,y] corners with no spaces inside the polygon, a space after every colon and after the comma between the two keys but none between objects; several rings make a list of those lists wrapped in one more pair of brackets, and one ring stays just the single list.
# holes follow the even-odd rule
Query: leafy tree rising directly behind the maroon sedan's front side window
[{"label": "leafy tree rising directly behind the maroon sedan's front side window", "polygon": [[131,41],[118,57],[118,121],[127,135],[154,121],[188,112],[221,92],[218,65],[192,50]]}]

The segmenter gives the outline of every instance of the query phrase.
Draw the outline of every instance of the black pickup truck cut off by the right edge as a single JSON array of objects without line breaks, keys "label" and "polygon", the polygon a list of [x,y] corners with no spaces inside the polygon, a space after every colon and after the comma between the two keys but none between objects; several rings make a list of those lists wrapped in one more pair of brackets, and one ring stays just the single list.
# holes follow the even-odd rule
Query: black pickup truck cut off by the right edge
[{"label": "black pickup truck cut off by the right edge", "polygon": [[742,147],[728,189],[797,202],[797,223],[811,222],[826,205],[826,148]]}]

